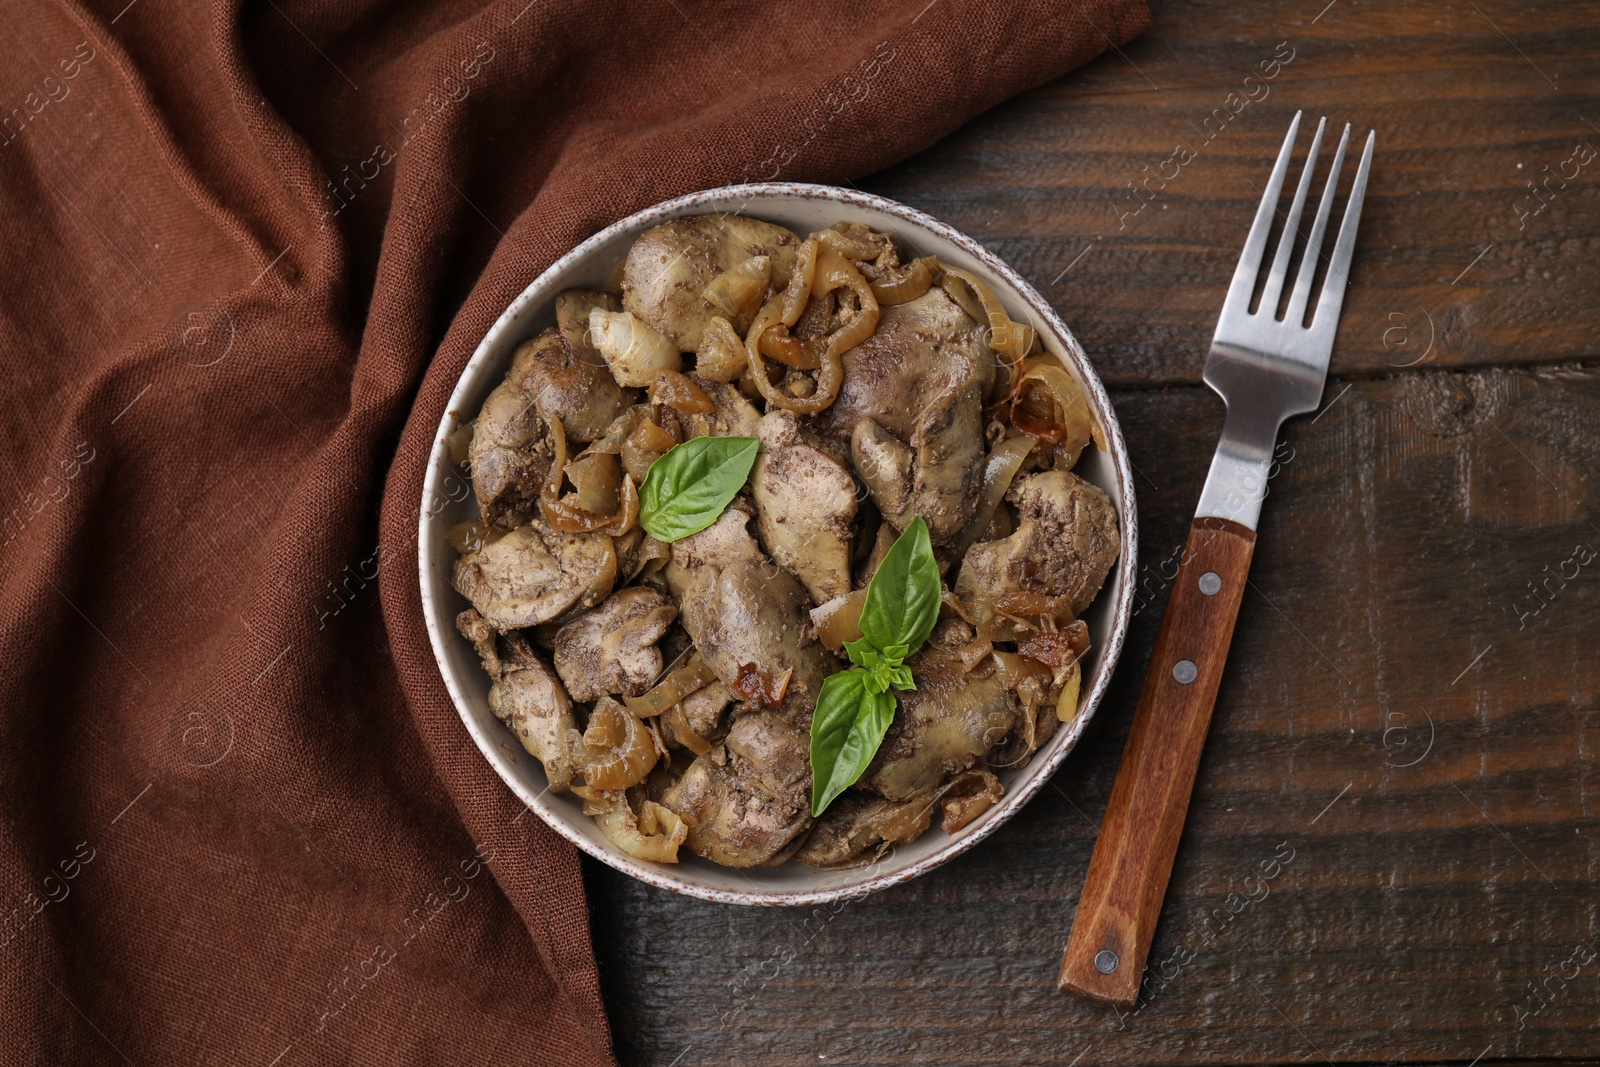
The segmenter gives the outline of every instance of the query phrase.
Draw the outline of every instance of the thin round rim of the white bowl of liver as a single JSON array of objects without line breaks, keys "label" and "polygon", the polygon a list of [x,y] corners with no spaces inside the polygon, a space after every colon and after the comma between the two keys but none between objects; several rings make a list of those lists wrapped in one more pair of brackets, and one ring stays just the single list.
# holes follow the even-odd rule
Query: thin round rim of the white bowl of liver
[{"label": "thin round rim of the white bowl of liver", "polygon": [[[571,825],[568,825],[566,816],[560,811],[552,809],[544,803],[544,792],[531,793],[518,781],[515,781],[502,766],[501,757],[496,749],[496,742],[502,737],[490,737],[485,729],[480,728],[477,718],[469,710],[469,701],[466,693],[456,681],[454,672],[451,670],[446,659],[446,641],[454,635],[454,627],[450,627],[450,633],[442,632],[438,622],[440,613],[434,603],[434,595],[429,585],[430,576],[430,549],[432,536],[437,525],[432,522],[434,510],[429,509],[430,501],[440,499],[438,483],[442,480],[443,464],[442,458],[446,456],[446,438],[461,424],[456,413],[461,410],[466,395],[478,387],[475,373],[477,368],[491,354],[491,349],[498,347],[502,334],[517,328],[525,314],[538,312],[544,301],[550,301],[555,296],[552,288],[550,293],[539,296],[541,304],[534,302],[536,294],[550,286],[550,283],[568,272],[576,264],[587,259],[595,250],[605,246],[619,235],[629,230],[642,232],[643,229],[664,222],[672,218],[680,218],[693,214],[698,211],[715,210],[709,208],[710,203],[718,202],[742,202],[736,211],[725,211],[728,214],[742,214],[746,208],[750,210],[752,218],[760,218],[758,202],[762,200],[826,200],[832,203],[843,203],[848,206],[864,208],[870,211],[878,211],[896,218],[912,227],[923,229],[946,242],[950,242],[963,253],[971,256],[974,261],[982,264],[982,267],[1010,286],[1016,299],[1027,306],[1027,309],[1042,318],[1048,328],[1062,341],[1066,349],[1061,358],[1072,363],[1072,371],[1078,381],[1085,386],[1090,394],[1090,403],[1094,408],[1096,416],[1101,421],[1101,427],[1106,430],[1107,458],[1112,466],[1112,474],[1115,475],[1117,490],[1120,494],[1118,506],[1118,523],[1122,526],[1122,553],[1117,558],[1115,566],[1120,571],[1120,581],[1117,589],[1117,600],[1112,605],[1112,627],[1110,633],[1106,637],[1101,646],[1099,656],[1102,662],[1102,670],[1099,670],[1094,685],[1090,691],[1078,699],[1078,713],[1066,729],[1059,729],[1056,737],[1051,739],[1046,750],[1034,753],[1034,760],[1022,771],[1021,781],[1014,784],[1013,792],[1006,793],[1000,803],[997,803],[990,811],[984,814],[970,830],[950,837],[946,845],[931,851],[928,856],[907,864],[901,869],[886,873],[870,873],[878,869],[882,862],[893,857],[893,851],[885,853],[878,861],[861,867],[859,870],[869,872],[861,881],[824,888],[824,889],[797,889],[797,891],[762,891],[752,886],[752,889],[720,889],[715,886],[696,885],[693,881],[680,880],[672,875],[670,865],[651,864],[648,861],[640,861],[627,856],[621,849],[611,849],[598,846],[590,838],[584,837]],[[526,286],[517,298],[506,307],[504,312],[494,320],[494,323],[483,334],[483,339],[474,349],[472,357],[462,366],[456,386],[450,394],[450,400],[445,405],[445,411],[440,416],[438,430],[434,434],[432,446],[427,454],[427,467],[422,478],[422,499],[418,514],[418,579],[422,593],[422,619],[427,625],[429,643],[434,649],[434,661],[438,667],[440,678],[450,693],[451,702],[456,707],[456,713],[461,717],[462,725],[472,736],[478,750],[499,776],[499,779],[512,790],[512,793],[525,805],[525,808],[533,809],[546,825],[562,835],[565,840],[576,845],[579,849],[589,853],[600,862],[621,870],[646,885],[667,889],[672,893],[683,893],[686,896],[699,897],[704,901],[714,901],[720,904],[746,904],[746,905],[770,905],[770,907],[808,907],[814,904],[832,904],[842,899],[861,899],[878,889],[886,889],[890,886],[910,881],[912,878],[939,867],[957,856],[966,853],[970,848],[978,845],[981,840],[994,833],[1000,825],[1003,825],[1013,814],[1016,814],[1029,800],[1043,789],[1045,782],[1050,781],[1054,773],[1061,768],[1067,753],[1077,747],[1078,737],[1082,737],[1094,712],[1099,709],[1099,702],[1110,686],[1112,673],[1115,672],[1117,662],[1122,656],[1123,643],[1128,633],[1128,624],[1133,617],[1133,600],[1134,600],[1134,566],[1138,561],[1138,507],[1133,486],[1133,464],[1128,458],[1126,442],[1122,435],[1122,426],[1117,422],[1117,414],[1112,410],[1110,398],[1106,394],[1106,387],[1094,373],[1093,365],[1090,365],[1088,355],[1078,344],[1077,338],[1067,328],[1067,325],[1056,315],[1056,310],[1045,301],[1043,296],[1013,267],[1002,261],[997,254],[979,245],[971,237],[962,234],[960,230],[934,219],[933,216],[910,208],[907,205],[898,203],[886,197],[878,197],[875,194],[861,192],[859,189],[840,189],[837,186],[822,186],[810,182],[746,182],[738,186],[722,186],[717,189],[702,189],[669,200],[662,200],[656,205],[635,211],[622,219],[618,219],[611,226],[595,232],[586,240],[579,242],[573,250],[555,259],[549,267],[539,272],[539,275]],[[498,725],[498,723],[496,723]]]}]

